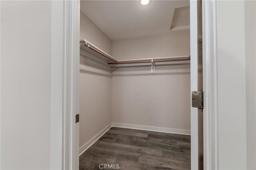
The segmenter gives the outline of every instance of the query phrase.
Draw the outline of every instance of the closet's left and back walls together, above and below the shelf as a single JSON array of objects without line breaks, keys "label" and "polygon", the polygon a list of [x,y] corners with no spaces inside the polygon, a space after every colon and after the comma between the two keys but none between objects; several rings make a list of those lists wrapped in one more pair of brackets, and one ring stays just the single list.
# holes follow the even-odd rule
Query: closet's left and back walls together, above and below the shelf
[{"label": "closet's left and back walls together, above and below the shelf", "polygon": [[[116,59],[190,54],[189,30],[117,40],[111,44],[92,21],[82,12],[80,14],[80,38],[112,53]],[[138,46],[134,47],[134,44]],[[80,55],[80,64],[86,69],[80,69],[80,152],[89,140],[113,122],[190,133],[189,64],[156,66],[154,75],[150,74],[150,66],[111,70],[83,55]]]}]

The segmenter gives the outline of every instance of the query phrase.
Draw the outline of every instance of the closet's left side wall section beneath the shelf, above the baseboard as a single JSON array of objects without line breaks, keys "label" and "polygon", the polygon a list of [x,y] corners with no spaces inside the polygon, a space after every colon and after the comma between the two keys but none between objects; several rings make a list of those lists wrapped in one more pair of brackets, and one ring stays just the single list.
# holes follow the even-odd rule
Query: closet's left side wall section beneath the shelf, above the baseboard
[{"label": "closet's left side wall section beneath the shelf, above the baseboard", "polygon": [[111,68],[82,55],[80,64],[85,68],[79,83],[81,148],[111,123]]}]

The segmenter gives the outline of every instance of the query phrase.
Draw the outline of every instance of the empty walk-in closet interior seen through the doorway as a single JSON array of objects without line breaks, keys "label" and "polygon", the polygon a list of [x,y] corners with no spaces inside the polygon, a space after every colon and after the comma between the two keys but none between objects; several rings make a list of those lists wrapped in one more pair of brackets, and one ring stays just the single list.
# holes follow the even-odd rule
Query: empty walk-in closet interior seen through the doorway
[{"label": "empty walk-in closet interior seen through the doorway", "polygon": [[80,1],[80,169],[190,169],[189,5]]}]

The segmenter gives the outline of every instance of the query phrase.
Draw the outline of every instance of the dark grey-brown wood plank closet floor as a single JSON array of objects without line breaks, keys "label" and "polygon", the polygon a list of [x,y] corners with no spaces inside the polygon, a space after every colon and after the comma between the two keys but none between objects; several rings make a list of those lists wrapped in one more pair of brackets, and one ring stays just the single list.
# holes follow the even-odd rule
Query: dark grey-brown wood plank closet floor
[{"label": "dark grey-brown wood plank closet floor", "polygon": [[[80,170],[188,170],[190,136],[112,127],[79,157]],[[101,166],[102,167],[102,166]]]}]

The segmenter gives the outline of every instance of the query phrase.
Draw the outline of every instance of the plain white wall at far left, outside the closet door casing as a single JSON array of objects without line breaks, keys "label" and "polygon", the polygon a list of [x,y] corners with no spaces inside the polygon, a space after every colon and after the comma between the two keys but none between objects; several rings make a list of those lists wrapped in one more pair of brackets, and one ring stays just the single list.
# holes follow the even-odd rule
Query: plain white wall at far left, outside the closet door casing
[{"label": "plain white wall at far left, outside the closet door casing", "polygon": [[49,169],[51,2],[0,3],[1,169]]}]

